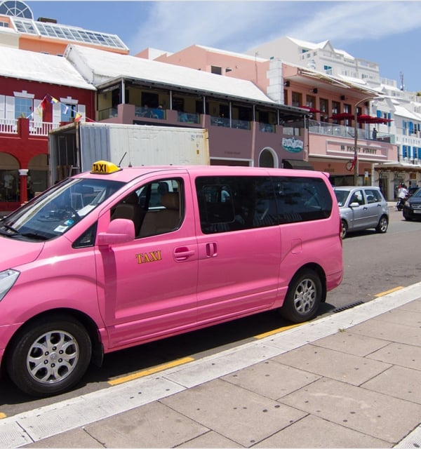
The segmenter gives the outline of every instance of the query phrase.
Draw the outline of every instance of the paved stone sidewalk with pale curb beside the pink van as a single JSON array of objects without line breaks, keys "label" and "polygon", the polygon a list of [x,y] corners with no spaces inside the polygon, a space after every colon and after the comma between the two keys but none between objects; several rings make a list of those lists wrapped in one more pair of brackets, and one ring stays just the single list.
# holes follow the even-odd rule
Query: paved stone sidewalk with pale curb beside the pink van
[{"label": "paved stone sidewalk with pale curb beside the pink van", "polygon": [[0,420],[1,448],[420,448],[421,283]]}]

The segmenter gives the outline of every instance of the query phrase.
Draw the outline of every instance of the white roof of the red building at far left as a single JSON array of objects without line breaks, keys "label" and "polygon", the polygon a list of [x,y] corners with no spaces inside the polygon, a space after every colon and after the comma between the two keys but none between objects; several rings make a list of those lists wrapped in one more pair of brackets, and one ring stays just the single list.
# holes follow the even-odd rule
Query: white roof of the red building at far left
[{"label": "white roof of the red building at far left", "polygon": [[95,90],[69,61],[60,56],[0,46],[0,61],[0,76]]}]

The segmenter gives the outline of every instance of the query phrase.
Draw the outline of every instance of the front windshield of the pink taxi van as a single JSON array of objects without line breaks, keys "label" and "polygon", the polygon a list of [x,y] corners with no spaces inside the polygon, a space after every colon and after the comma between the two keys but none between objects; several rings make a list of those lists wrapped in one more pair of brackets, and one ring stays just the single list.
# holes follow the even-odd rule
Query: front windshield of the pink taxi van
[{"label": "front windshield of the pink taxi van", "polygon": [[123,182],[67,178],[0,220],[0,235],[46,241],[65,234],[83,220]]}]

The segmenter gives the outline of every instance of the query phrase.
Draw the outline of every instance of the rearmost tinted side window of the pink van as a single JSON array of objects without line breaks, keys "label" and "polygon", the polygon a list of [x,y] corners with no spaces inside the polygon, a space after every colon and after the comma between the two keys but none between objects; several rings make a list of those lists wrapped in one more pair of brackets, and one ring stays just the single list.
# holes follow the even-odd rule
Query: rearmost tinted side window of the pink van
[{"label": "rearmost tinted side window of the pink van", "polygon": [[319,178],[274,177],[279,224],[321,220],[332,212],[332,197]]}]

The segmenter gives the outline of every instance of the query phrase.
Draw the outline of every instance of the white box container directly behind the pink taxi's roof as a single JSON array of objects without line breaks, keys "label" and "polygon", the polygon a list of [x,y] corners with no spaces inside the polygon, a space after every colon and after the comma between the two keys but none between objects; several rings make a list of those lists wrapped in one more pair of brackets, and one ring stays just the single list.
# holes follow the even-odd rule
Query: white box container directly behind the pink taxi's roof
[{"label": "white box container directly behind the pink taxi's roof", "polygon": [[209,165],[208,130],[119,123],[71,123],[48,137],[51,182],[105,160],[121,167]]}]

